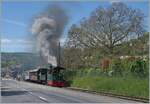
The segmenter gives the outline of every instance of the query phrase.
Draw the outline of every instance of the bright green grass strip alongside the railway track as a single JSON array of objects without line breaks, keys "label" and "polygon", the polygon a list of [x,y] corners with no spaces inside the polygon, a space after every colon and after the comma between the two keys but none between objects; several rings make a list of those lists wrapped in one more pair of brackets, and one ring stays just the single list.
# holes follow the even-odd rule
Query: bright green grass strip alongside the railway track
[{"label": "bright green grass strip alongside the railway track", "polygon": [[75,77],[72,87],[106,91],[134,97],[149,98],[149,81],[133,77],[83,76]]}]

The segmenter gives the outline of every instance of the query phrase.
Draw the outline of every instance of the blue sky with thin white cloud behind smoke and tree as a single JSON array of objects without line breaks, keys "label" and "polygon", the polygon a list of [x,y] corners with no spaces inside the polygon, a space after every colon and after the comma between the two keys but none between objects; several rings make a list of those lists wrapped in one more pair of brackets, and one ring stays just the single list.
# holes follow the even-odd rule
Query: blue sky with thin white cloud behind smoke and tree
[{"label": "blue sky with thin white cloud behind smoke and tree", "polygon": [[[1,31],[1,51],[2,52],[27,52],[32,49],[32,41],[30,40],[31,24],[33,18],[44,11],[54,2],[3,2],[2,3],[2,24]],[[112,2],[55,2],[59,3],[67,12],[69,22],[66,26],[61,42],[63,43],[67,37],[69,27],[79,21],[83,17],[88,17],[90,13],[98,6],[108,7]],[[148,2],[125,2],[132,8],[141,9],[145,16],[148,16]],[[145,20],[147,22],[147,19]]]}]

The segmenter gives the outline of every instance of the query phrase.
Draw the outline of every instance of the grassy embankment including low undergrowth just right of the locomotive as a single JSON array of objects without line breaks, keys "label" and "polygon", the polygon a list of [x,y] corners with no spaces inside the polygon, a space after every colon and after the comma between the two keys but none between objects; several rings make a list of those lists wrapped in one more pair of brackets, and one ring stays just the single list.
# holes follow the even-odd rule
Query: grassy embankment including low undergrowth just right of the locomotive
[{"label": "grassy embankment including low undergrowth just right of the locomotive", "polygon": [[[105,91],[132,97],[149,98],[149,79],[127,76],[107,76],[100,70],[68,72],[71,87]],[[67,76],[68,76],[67,75]]]}]

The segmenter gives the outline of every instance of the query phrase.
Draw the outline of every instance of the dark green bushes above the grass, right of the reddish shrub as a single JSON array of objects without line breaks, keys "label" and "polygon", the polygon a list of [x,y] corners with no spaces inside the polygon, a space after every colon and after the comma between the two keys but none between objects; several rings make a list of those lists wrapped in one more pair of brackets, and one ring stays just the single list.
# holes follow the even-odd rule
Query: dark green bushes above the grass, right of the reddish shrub
[{"label": "dark green bushes above the grass, right of the reddish shrub", "polygon": [[109,76],[147,77],[149,75],[148,61],[142,59],[113,59],[108,72]]}]

